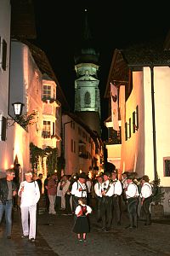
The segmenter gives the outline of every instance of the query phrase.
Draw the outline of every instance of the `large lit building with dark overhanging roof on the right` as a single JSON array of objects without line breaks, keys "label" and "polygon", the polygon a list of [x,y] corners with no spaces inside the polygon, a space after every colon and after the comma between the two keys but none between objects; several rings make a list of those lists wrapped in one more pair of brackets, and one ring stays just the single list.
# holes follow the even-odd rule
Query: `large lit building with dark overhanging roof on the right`
[{"label": "large lit building with dark overhanging roof on the right", "polygon": [[[162,40],[116,49],[105,90],[111,114],[111,84],[117,88],[121,124],[120,131],[110,133],[106,143],[108,160],[116,163],[118,148],[120,174],[124,171],[136,172],[138,177],[145,174],[150,181],[160,178],[165,191],[165,213],[169,212],[170,196],[169,60],[170,52],[163,48]],[[113,127],[113,119],[105,121],[108,129],[111,122]],[[115,133],[120,143],[113,136]]]}]

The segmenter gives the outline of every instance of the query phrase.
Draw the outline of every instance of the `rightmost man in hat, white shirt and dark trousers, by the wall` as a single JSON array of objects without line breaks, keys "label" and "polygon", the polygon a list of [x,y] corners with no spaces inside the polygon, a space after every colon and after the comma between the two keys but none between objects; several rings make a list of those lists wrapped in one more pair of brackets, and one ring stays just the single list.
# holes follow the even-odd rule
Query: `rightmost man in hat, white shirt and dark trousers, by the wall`
[{"label": "rightmost man in hat, white shirt and dark trousers, by the wall", "polygon": [[150,203],[152,201],[151,195],[152,195],[152,188],[151,184],[149,183],[150,179],[147,175],[144,175],[141,179],[141,206],[144,213],[145,218],[145,225],[150,225]]}]

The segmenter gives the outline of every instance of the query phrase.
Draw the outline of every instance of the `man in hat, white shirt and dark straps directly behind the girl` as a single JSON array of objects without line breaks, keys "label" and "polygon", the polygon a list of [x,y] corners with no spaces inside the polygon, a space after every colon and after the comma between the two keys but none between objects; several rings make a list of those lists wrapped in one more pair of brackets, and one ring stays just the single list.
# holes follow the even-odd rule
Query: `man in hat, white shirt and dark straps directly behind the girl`
[{"label": "man in hat, white shirt and dark straps directly behind the girl", "polygon": [[71,195],[73,195],[73,208],[78,206],[79,198],[85,197],[87,199],[88,187],[86,184],[86,173],[82,172],[78,176],[78,180],[72,184]]}]

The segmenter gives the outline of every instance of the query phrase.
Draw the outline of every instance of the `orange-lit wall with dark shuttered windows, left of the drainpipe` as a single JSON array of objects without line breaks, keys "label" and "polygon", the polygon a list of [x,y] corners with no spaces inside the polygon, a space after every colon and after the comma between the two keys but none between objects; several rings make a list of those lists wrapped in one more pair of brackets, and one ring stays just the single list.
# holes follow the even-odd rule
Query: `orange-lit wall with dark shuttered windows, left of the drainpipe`
[{"label": "orange-lit wall with dark shuttered windows, left of the drainpipe", "polygon": [[[122,172],[137,172],[139,176],[144,172],[144,91],[143,73],[133,73],[133,90],[125,102],[122,101]],[[133,133],[133,111],[139,106],[139,130]],[[125,122],[131,118],[131,137],[125,141]],[[127,125],[128,126],[128,125]],[[128,127],[127,127],[128,128]]]}]

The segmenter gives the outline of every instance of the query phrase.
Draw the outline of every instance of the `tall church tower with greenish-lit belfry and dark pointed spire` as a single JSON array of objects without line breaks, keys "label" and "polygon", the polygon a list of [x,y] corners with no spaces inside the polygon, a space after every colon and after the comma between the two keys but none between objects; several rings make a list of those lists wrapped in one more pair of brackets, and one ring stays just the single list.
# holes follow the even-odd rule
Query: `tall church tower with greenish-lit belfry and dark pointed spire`
[{"label": "tall church tower with greenish-lit belfry and dark pointed spire", "polygon": [[94,49],[86,9],[83,32],[82,45],[75,54],[75,113],[100,136],[99,53]]}]

